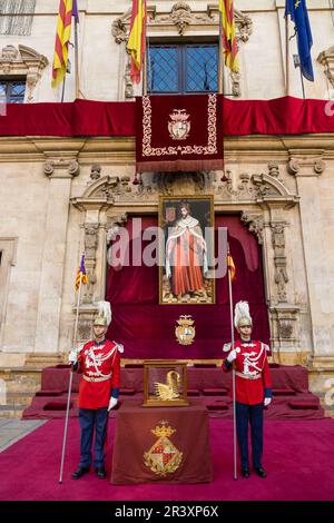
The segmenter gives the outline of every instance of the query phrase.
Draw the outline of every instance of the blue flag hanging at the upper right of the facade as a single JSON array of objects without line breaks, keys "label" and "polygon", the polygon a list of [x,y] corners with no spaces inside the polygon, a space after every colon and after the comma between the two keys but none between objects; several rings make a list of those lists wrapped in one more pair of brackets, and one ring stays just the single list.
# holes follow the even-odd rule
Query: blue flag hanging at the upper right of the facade
[{"label": "blue flag hanging at the upper right of the facade", "polygon": [[286,0],[285,17],[291,16],[297,31],[298,55],[302,75],[314,81],[311,48],[313,45],[306,0]]}]

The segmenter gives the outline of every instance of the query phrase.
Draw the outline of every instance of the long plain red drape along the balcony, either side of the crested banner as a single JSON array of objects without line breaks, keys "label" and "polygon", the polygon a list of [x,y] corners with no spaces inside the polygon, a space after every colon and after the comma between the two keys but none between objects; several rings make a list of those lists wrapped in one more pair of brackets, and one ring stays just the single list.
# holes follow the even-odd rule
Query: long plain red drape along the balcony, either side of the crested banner
[{"label": "long plain red drape along the balcony, either side of the crested banner", "polygon": [[[135,102],[7,103],[0,136],[136,136]],[[334,101],[224,99],[225,136],[334,132]]]}]

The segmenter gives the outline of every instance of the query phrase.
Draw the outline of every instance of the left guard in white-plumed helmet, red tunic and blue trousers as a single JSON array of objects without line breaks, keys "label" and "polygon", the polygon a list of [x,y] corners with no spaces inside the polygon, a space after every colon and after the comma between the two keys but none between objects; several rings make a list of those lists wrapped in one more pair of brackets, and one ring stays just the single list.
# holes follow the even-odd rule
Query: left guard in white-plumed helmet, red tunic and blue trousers
[{"label": "left guard in white-plumed helmet, red tunic and blue trousers", "polygon": [[79,385],[80,463],[72,474],[78,480],[89,472],[91,445],[95,432],[95,471],[100,478],[107,477],[105,470],[105,442],[108,411],[114,408],[119,395],[120,356],[122,345],[106,339],[111,322],[108,302],[99,302],[99,314],[94,322],[94,341],[77,353],[72,351],[69,362],[73,371],[81,373]]}]

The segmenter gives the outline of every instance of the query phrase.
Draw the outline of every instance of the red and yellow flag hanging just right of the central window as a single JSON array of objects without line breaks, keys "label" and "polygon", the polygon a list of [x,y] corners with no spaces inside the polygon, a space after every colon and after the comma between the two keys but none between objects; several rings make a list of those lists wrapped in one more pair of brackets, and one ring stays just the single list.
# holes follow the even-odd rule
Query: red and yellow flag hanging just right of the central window
[{"label": "red and yellow flag hanging just right of the central window", "polygon": [[235,33],[233,0],[219,0],[219,11],[222,13],[222,36],[225,65],[233,72],[238,72],[238,47]]}]

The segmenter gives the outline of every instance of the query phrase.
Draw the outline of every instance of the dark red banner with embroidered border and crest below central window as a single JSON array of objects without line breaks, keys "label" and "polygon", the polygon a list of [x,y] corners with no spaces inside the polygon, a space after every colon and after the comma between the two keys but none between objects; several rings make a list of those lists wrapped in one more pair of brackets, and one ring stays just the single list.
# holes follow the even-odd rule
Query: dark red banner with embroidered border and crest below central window
[{"label": "dark red banner with embroidered border and crest below central window", "polygon": [[223,95],[136,98],[136,164],[143,171],[223,169]]}]

